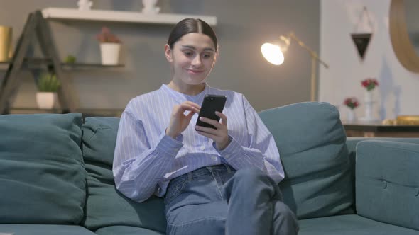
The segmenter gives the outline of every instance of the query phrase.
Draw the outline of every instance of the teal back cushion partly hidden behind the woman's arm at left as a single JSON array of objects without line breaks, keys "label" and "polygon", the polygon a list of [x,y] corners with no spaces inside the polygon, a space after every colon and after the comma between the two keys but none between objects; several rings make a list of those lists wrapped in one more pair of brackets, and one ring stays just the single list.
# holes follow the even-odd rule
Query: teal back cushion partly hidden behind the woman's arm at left
[{"label": "teal back cushion partly hidden behind the woman's arm at left", "polygon": [[82,127],[88,185],[85,227],[96,230],[127,225],[164,232],[166,222],[161,198],[151,197],[138,203],[115,188],[112,161],[118,125],[116,117],[87,117]]}]

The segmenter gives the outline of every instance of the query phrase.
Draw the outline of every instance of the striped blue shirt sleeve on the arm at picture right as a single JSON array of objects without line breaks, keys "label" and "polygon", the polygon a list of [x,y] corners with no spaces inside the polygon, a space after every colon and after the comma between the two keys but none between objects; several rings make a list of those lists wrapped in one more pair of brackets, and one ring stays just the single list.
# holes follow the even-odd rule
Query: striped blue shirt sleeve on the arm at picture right
[{"label": "striped blue shirt sleeve on the arm at picture right", "polygon": [[229,137],[230,144],[225,149],[216,149],[236,170],[253,166],[266,172],[279,183],[284,178],[284,171],[275,139],[246,98],[244,109],[249,146],[241,146],[233,137]]}]

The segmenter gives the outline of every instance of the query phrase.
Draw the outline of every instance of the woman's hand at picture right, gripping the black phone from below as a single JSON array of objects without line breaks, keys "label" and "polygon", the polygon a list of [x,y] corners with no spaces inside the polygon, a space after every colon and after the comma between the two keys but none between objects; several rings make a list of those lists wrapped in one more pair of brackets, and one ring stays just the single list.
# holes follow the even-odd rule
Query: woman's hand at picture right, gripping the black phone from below
[{"label": "woman's hand at picture right, gripping the black phone from below", "polygon": [[227,130],[227,116],[223,113],[219,113],[218,111],[215,112],[215,115],[220,117],[221,122],[217,122],[216,120],[212,120],[207,117],[200,117],[200,120],[213,125],[216,129],[197,125],[195,126],[195,130],[197,130],[199,134],[212,139],[215,142],[217,149],[223,150],[230,143]]}]

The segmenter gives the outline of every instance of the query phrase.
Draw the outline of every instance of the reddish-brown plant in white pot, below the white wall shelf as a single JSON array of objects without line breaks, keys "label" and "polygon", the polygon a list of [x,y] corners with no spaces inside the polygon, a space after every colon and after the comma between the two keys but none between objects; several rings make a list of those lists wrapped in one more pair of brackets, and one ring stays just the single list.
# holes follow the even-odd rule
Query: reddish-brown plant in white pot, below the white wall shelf
[{"label": "reddish-brown plant in white pot, below the white wall shelf", "polygon": [[96,36],[100,42],[100,52],[102,64],[115,65],[119,61],[119,51],[121,50],[121,40],[111,33],[107,27],[102,27],[102,32]]}]

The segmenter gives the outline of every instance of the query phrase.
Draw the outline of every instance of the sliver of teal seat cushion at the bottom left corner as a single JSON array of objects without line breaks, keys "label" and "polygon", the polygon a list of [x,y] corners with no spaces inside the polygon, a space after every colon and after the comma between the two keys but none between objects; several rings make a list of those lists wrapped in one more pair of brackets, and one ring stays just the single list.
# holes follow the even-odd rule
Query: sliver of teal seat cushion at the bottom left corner
[{"label": "sliver of teal seat cushion at the bottom left corner", "polygon": [[57,224],[0,224],[1,235],[95,235],[78,225]]}]

